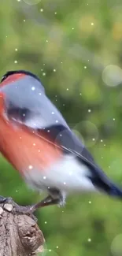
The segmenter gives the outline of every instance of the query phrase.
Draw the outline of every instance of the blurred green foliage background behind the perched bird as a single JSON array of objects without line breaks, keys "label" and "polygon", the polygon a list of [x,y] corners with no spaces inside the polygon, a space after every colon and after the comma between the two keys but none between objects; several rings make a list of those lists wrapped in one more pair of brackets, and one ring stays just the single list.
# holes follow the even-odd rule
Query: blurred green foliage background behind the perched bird
[{"label": "blurred green foliage background behind the perched bird", "polygon": [[[121,13],[119,0],[2,1],[0,76],[11,69],[38,75],[98,164],[122,186],[122,87],[108,86],[102,76],[109,65],[122,67]],[[1,195],[21,205],[43,198],[2,157],[0,169]],[[50,206],[36,216],[47,256],[122,255],[119,200],[74,195],[65,208]]]}]

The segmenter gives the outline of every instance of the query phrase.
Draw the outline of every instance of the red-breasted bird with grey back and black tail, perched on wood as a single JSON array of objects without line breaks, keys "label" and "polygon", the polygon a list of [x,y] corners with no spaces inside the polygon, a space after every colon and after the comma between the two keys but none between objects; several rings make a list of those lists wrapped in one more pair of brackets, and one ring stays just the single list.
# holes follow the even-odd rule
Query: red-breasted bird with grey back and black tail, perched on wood
[{"label": "red-breasted bird with grey back and black tail, perched on wood", "polygon": [[[46,191],[31,212],[65,206],[68,195],[80,192],[122,198],[122,189],[95,162],[32,72],[12,70],[2,76],[0,152],[29,187]],[[2,195],[0,202],[6,202]]]}]

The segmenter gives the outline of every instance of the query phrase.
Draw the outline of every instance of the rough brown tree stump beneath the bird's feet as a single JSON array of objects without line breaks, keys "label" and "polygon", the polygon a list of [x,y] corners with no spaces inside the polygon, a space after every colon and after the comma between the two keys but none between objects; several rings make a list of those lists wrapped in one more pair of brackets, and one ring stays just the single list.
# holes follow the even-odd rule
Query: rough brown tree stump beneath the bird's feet
[{"label": "rough brown tree stump beneath the bird's feet", "polygon": [[43,252],[43,232],[33,215],[18,213],[15,206],[13,200],[0,204],[0,256],[38,255]]}]

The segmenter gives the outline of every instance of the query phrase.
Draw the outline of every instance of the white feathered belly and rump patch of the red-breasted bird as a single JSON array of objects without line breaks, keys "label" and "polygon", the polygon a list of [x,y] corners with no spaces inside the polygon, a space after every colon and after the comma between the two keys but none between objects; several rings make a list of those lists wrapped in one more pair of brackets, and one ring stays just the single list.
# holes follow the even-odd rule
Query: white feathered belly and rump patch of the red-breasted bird
[{"label": "white feathered belly and rump patch of the red-breasted bird", "polygon": [[[24,172],[25,173],[25,172]],[[63,156],[60,161],[45,171],[31,169],[25,180],[31,187],[46,190],[54,187],[68,193],[72,191],[95,191],[94,184],[87,176],[91,170],[72,156]]]}]

